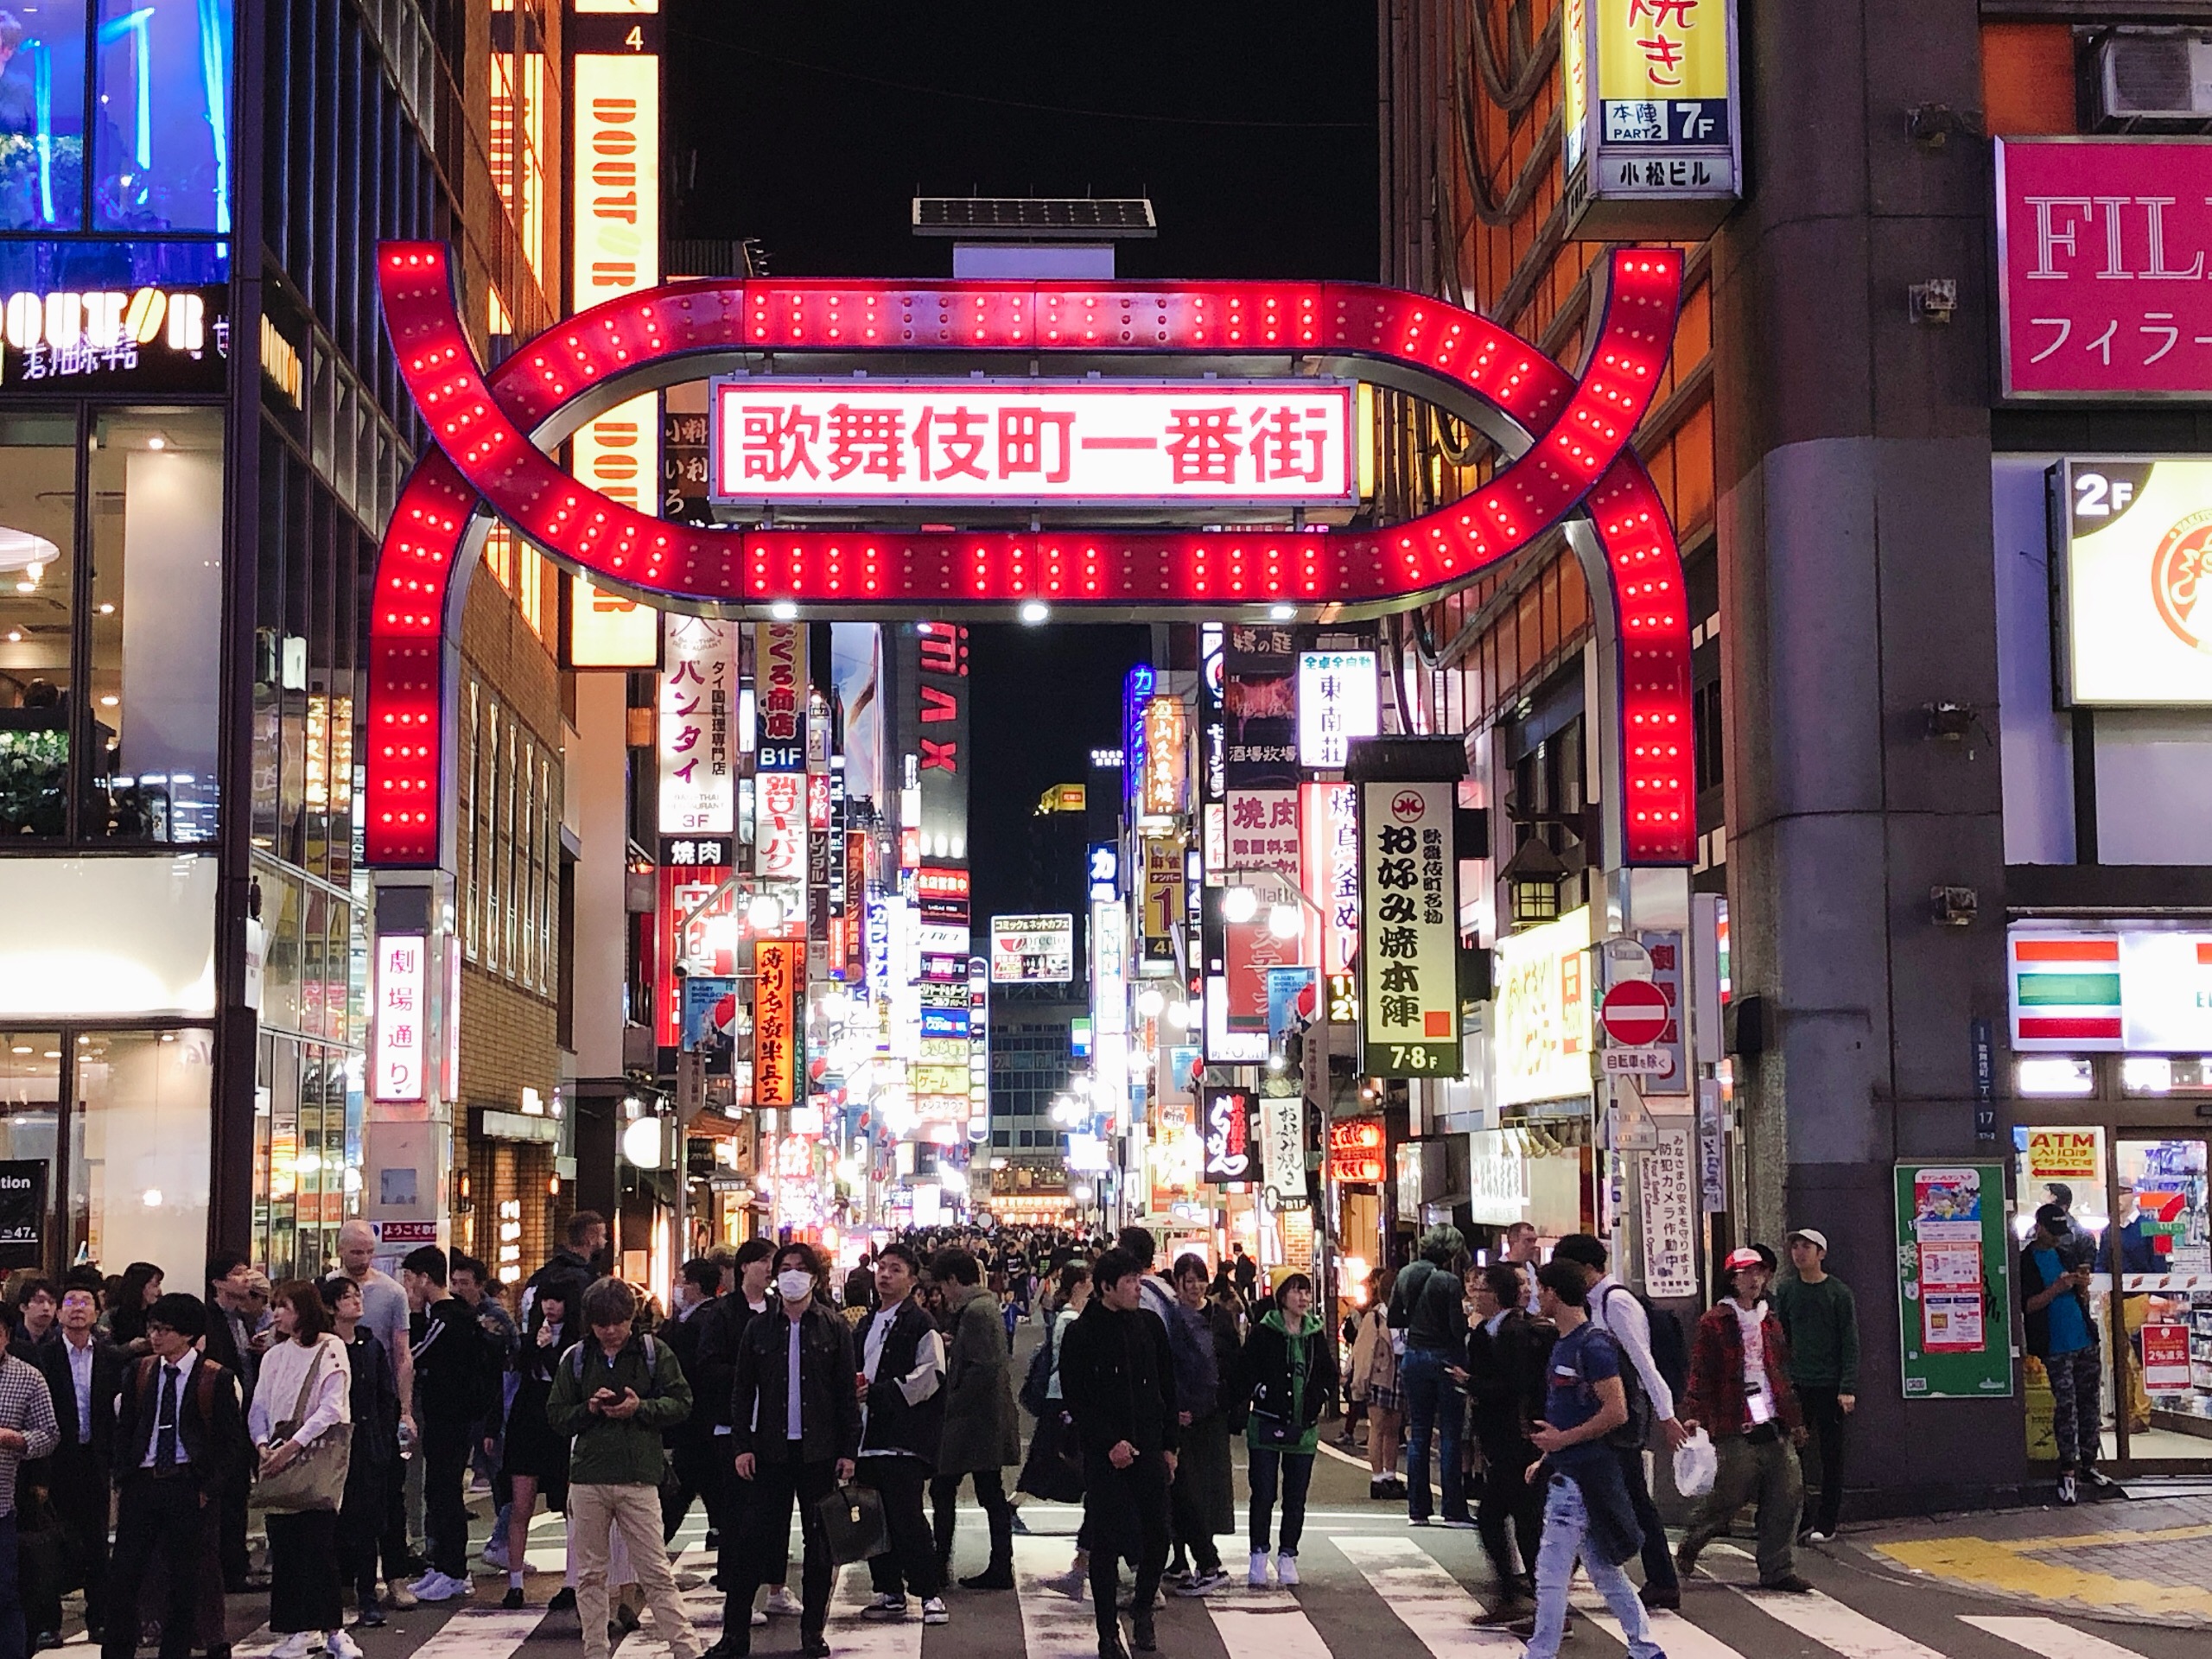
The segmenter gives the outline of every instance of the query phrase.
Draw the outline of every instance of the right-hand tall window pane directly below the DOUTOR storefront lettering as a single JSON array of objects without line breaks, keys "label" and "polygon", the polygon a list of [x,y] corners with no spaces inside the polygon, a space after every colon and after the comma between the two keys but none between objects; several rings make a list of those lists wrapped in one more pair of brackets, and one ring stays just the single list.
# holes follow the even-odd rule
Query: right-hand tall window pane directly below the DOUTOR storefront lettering
[{"label": "right-hand tall window pane directly below the DOUTOR storefront lettering", "polygon": [[215,838],[223,626],[223,416],[102,414],[91,456],[88,838]]}]

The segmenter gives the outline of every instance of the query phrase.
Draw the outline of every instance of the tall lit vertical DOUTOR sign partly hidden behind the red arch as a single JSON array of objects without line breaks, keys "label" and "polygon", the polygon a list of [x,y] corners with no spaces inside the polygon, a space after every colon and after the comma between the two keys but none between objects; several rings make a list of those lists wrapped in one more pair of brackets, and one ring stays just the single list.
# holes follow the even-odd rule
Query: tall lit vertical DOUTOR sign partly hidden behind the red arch
[{"label": "tall lit vertical DOUTOR sign partly hidden behind the red arch", "polygon": [[[615,11],[580,0],[580,13]],[[657,0],[635,0],[619,15],[571,24],[568,199],[575,232],[568,310],[653,288],[661,281],[661,55]],[[557,299],[557,296],[555,296]],[[657,513],[661,476],[659,394],[619,403],[568,442],[571,471],[639,513]],[[650,668],[659,644],[653,606],[619,599],[571,580],[571,664]],[[639,615],[641,613],[641,615]]]}]

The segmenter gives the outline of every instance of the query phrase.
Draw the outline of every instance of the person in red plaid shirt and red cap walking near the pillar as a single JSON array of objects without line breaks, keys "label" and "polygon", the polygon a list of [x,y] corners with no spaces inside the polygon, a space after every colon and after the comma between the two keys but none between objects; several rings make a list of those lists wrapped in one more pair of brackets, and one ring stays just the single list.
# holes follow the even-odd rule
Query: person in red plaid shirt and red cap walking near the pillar
[{"label": "person in red plaid shirt and red cap walking near the pillar", "polygon": [[1734,1250],[1725,1272],[1730,1294],[1697,1321],[1690,1398],[1681,1411],[1683,1425],[1703,1425],[1712,1436],[1721,1469],[1674,1562],[1690,1577],[1699,1551],[1756,1500],[1759,1584],[1803,1595],[1812,1590],[1796,1575],[1796,1520],[1805,1502],[1796,1449],[1805,1444],[1805,1418],[1790,1387],[1783,1323],[1765,1301],[1774,1270],[1756,1250]]}]

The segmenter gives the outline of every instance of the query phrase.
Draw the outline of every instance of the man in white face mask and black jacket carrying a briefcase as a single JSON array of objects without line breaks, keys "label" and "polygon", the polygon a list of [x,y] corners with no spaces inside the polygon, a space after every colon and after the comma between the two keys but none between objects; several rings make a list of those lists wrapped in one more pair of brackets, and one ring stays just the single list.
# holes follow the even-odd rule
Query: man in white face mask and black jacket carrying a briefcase
[{"label": "man in white face mask and black jacket carrying a briefcase", "polygon": [[[852,1329],[821,1303],[823,1267],[812,1245],[787,1243],[774,1256],[781,1305],[761,1314],[737,1345],[730,1389],[730,1444],[737,1449],[737,1506],[743,1522],[723,1542],[723,1626],[714,1659],[752,1652],[752,1593],[761,1568],[781,1553],[799,1502],[801,1562],[799,1648],[823,1659],[830,1641],[830,1535],[814,1509],[818,1498],[852,1480],[860,1453],[860,1396]],[[734,1542],[734,1548],[732,1548]]]}]

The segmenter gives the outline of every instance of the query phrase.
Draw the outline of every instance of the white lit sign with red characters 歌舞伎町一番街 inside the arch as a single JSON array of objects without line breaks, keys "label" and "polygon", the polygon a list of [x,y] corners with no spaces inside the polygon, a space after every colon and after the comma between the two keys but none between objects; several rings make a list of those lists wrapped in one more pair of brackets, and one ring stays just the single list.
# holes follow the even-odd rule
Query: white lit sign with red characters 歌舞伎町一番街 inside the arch
[{"label": "white lit sign with red characters \u6b4c\u821e\u4f0e\u753a\u4e00\u756a\u8857 inside the arch", "polygon": [[712,414],[723,504],[1358,502],[1343,380],[739,376]]}]

